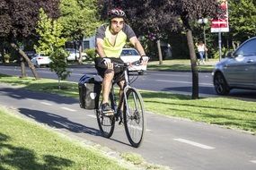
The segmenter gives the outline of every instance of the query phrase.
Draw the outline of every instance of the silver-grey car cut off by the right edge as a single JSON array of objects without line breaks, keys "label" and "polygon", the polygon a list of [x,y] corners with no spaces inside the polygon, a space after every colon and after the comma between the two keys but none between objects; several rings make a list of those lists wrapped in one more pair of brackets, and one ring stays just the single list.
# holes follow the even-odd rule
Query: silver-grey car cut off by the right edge
[{"label": "silver-grey car cut off by the right edge", "polygon": [[256,89],[256,37],[216,64],[213,81],[219,95],[227,95],[231,89]]}]

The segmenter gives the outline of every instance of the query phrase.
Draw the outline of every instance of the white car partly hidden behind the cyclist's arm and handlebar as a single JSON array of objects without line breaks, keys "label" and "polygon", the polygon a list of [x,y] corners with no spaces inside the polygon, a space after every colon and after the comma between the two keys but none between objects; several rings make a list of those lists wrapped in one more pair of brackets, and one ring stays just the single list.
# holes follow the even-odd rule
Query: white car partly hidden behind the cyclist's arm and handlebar
[{"label": "white car partly hidden behind the cyclist's arm and handlebar", "polygon": [[[125,62],[135,62],[140,59],[140,55],[134,48],[123,48],[120,58]],[[128,67],[128,71],[143,74],[146,71],[146,65],[132,65]]]}]

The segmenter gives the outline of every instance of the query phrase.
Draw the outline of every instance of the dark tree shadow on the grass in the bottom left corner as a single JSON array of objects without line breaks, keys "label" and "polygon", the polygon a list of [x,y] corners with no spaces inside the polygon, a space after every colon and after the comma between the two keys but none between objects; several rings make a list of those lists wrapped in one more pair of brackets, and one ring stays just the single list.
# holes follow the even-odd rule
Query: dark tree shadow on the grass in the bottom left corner
[{"label": "dark tree shadow on the grass in the bottom left corner", "polygon": [[61,170],[64,167],[74,164],[74,162],[69,159],[52,155],[45,155],[43,156],[43,163],[38,162],[36,153],[33,150],[7,144],[9,140],[12,140],[12,138],[4,133],[0,133],[0,153],[2,152],[0,155],[1,170],[10,168],[17,170]]}]

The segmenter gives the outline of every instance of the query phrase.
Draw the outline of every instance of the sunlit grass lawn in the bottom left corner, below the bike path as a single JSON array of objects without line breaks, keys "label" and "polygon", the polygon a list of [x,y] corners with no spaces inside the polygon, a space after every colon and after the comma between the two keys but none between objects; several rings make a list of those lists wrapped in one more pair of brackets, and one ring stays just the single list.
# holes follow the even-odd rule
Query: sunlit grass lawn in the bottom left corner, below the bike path
[{"label": "sunlit grass lawn in the bottom left corner, below the bike path", "polygon": [[117,160],[0,107],[0,169],[125,169]]}]

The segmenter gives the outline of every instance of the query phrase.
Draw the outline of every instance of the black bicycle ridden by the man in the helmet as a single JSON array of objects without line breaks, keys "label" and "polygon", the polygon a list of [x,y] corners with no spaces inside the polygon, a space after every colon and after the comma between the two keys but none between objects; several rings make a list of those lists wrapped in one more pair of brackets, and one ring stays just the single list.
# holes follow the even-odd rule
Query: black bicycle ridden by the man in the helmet
[{"label": "black bicycle ridden by the man in the helmet", "polygon": [[[117,98],[115,98],[113,86],[118,80],[116,79],[112,81],[109,97],[110,106],[114,115],[102,114],[102,95],[100,95],[99,104],[95,109],[99,129],[103,137],[110,138],[114,132],[115,123],[118,121],[119,123],[124,123],[128,141],[133,147],[138,148],[144,139],[146,131],[146,115],[143,99],[137,89],[130,86],[133,82],[129,79],[128,66],[130,64],[113,64],[123,69],[125,77],[124,90],[119,98],[119,102],[122,102],[119,104],[119,107],[123,106],[123,112],[120,115],[118,114],[120,108],[117,106]],[[140,64],[140,61],[133,62],[132,64]]]}]

